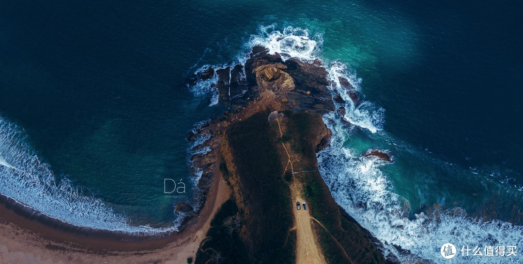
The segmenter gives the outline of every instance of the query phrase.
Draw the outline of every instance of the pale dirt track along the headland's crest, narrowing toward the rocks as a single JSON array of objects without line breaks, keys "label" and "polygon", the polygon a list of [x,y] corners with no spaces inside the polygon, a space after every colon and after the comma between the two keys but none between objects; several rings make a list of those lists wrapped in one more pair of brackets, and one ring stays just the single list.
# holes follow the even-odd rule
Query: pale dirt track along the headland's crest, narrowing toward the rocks
[{"label": "pale dirt track along the headland's crest, narrowing toward the rocks", "polygon": [[[283,136],[281,129],[280,120],[276,119],[278,122],[278,128],[280,130],[280,137]],[[304,196],[301,192],[301,183],[298,181],[298,178],[294,177],[294,166],[292,164],[291,154],[289,153],[288,148],[285,146],[285,143],[281,142],[283,149],[287,153],[288,162],[286,170],[290,165],[291,173],[293,174],[294,180],[291,183],[291,196],[293,201],[292,212],[294,214],[295,225],[293,229],[296,229],[296,263],[321,263],[326,264],[325,257],[320,249],[320,245],[317,243],[316,236],[312,230],[312,217],[309,213],[309,210],[303,210],[302,202],[306,203]],[[295,203],[300,202],[300,210],[297,210]]]}]

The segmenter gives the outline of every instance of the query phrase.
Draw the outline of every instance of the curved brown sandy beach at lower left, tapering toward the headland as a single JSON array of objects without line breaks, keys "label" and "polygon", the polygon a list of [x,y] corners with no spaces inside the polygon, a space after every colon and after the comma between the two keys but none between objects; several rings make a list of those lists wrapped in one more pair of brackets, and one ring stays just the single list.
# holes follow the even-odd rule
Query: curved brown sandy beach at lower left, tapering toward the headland
[{"label": "curved brown sandy beach at lower left, tapering toward the headland", "polygon": [[0,204],[0,263],[164,261],[184,263],[195,257],[214,214],[229,199],[231,190],[220,172],[212,179],[200,213],[174,234],[161,238],[126,241],[99,235],[87,236],[56,229],[31,220]]}]

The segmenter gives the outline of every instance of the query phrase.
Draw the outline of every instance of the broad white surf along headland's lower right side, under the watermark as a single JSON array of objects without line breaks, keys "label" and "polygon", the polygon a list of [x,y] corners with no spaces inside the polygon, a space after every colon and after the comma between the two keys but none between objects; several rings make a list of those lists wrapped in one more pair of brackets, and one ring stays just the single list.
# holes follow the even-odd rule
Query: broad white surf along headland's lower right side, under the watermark
[{"label": "broad white surf along headland's lower right side, under the watermark", "polygon": [[[441,260],[440,247],[452,243],[462,246],[518,246],[523,243],[523,227],[493,220],[482,222],[467,217],[464,210],[441,210],[438,217],[423,212],[416,219],[407,217],[408,201],[394,193],[394,186],[380,170],[377,159],[362,158],[344,146],[350,136],[342,121],[333,113],[324,116],[332,130],[331,148],[322,150],[318,160],[320,172],[335,200],[363,227],[385,244],[385,254],[392,253],[407,263],[415,262],[400,249],[409,250],[423,259]],[[394,246],[395,245],[395,246]],[[482,249],[483,250],[483,249]],[[485,258],[461,255],[453,263],[484,263]],[[519,256],[490,258],[489,262],[515,263]]]}]

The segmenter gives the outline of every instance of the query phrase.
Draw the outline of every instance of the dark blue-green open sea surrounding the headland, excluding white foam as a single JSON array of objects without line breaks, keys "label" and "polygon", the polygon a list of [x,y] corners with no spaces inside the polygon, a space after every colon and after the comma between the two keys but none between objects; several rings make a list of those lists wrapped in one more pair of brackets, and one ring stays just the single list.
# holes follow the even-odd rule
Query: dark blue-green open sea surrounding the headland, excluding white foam
[{"label": "dark blue-green open sea surrounding the headland, excluding white foam", "polygon": [[163,179],[190,185],[187,133],[221,113],[207,106],[208,97],[194,97],[188,76],[204,64],[234,61],[272,23],[320,34],[319,56],[347,63],[365,100],[384,110],[380,132],[362,129],[345,145],[391,149],[396,162],[382,171],[410,200],[411,218],[445,201],[469,213],[492,197],[503,200],[501,210],[523,206],[517,3],[0,6],[0,116],[25,130],[23,141],[55,177],[138,223],[169,225],[174,203],[190,200],[190,188],[186,197],[164,195]]}]

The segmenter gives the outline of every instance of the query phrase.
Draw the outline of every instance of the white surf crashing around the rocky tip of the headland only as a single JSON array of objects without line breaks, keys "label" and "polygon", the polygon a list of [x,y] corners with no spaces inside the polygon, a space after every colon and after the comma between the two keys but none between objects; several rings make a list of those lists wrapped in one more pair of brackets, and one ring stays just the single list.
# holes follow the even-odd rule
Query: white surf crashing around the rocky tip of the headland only
[{"label": "white surf crashing around the rocky tip of the headland only", "polygon": [[[280,54],[283,61],[289,58],[298,58],[302,61],[320,61],[323,63],[321,58],[322,45],[322,35],[314,34],[310,37],[309,30],[306,29],[286,27],[282,31],[279,31],[276,30],[276,25],[262,26],[259,28],[259,34],[251,35],[251,38],[249,38],[249,41],[245,44],[244,51],[237,55],[232,63],[212,66],[203,65],[196,70],[195,75],[201,76],[205,70],[213,68],[214,75],[212,78],[206,80],[198,79],[194,85],[189,86],[189,90],[194,93],[196,97],[209,97],[210,95],[209,106],[216,105],[219,99],[218,90],[216,89],[218,83],[218,75],[216,72],[229,68],[230,74],[234,65],[244,65],[254,46],[266,47],[269,54]],[[360,92],[361,79],[356,78],[354,70],[350,70],[346,64],[338,61],[332,62],[329,66],[324,65],[324,67],[327,69],[328,78],[329,81],[331,81],[329,89],[337,92],[345,101],[345,105],[343,106],[348,110],[346,111],[345,118],[350,123],[368,129],[372,133],[382,130],[384,109],[368,101],[353,102],[345,91],[347,88],[343,87],[339,81],[339,78],[345,78],[350,82],[352,89]],[[242,78],[245,79],[245,73],[243,73]]]}]

